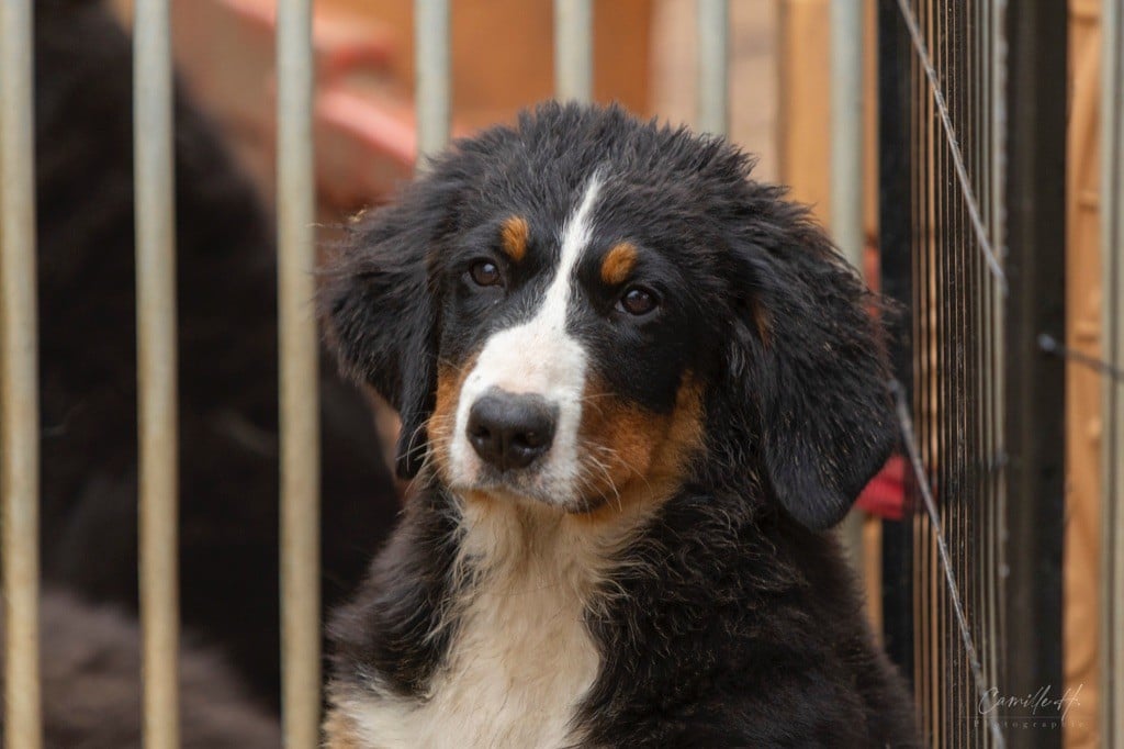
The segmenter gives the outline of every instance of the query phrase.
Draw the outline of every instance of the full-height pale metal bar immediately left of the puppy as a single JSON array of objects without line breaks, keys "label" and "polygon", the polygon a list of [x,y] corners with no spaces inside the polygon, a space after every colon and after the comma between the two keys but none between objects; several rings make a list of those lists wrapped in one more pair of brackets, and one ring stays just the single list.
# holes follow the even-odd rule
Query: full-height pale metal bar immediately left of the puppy
[{"label": "full-height pale metal bar immediately left of the puppy", "polygon": [[[312,2],[278,6],[278,324],[281,391],[281,705],[284,746],[320,722],[320,435],[312,153]],[[420,110],[419,110],[420,112]]]}]

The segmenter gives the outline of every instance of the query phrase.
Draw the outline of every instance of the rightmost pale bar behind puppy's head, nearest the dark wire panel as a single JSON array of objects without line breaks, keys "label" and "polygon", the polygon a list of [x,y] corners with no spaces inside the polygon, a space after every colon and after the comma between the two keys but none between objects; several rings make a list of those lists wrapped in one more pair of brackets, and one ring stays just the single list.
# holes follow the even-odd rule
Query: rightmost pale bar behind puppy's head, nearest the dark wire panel
[{"label": "rightmost pale bar behind puppy's head, nearest the dark wire panel", "polygon": [[[864,31],[862,0],[832,0],[832,234],[836,246],[860,274],[865,245],[862,227]],[[861,574],[863,566],[862,518],[862,512],[853,509],[841,526],[842,541],[856,574]]]}]

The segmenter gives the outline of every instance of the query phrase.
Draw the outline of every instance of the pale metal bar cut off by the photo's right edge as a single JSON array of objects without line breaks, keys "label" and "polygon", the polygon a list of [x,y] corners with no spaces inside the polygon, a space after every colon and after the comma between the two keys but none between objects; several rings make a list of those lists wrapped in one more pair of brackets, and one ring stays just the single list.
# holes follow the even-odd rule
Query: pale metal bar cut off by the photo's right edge
[{"label": "pale metal bar cut off by the photo's right edge", "polygon": [[[1124,368],[1124,8],[1104,4],[1100,99],[1100,249],[1105,361]],[[1124,388],[1106,377],[1102,520],[1102,740],[1124,743]]]}]

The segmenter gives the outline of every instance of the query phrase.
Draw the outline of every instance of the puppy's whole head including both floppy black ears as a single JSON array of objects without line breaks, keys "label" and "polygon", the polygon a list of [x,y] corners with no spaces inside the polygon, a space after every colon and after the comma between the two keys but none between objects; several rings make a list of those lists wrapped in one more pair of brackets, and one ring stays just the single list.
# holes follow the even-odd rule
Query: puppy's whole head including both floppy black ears
[{"label": "puppy's whole head including both floppy black ears", "polygon": [[856,277],[751,166],[545,105],[356,222],[325,313],[401,414],[399,473],[577,513],[754,472],[841,518],[894,444],[883,357]]}]

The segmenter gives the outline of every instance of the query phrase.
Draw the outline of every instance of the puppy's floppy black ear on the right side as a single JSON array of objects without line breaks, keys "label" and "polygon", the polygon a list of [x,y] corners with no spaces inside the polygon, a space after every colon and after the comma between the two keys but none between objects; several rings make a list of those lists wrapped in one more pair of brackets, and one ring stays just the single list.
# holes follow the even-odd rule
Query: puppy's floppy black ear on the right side
[{"label": "puppy's floppy black ear on the right side", "polygon": [[804,525],[846,514],[897,441],[889,370],[856,273],[806,211],[755,217],[736,250],[749,291],[733,361],[773,491]]}]

